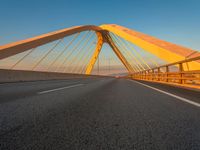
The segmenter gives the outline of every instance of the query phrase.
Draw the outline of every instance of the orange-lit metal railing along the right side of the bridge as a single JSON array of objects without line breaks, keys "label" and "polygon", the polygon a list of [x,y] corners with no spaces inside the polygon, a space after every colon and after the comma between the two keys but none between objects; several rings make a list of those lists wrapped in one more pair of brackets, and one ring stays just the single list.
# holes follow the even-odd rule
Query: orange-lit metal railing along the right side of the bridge
[{"label": "orange-lit metal railing along the right side of the bridge", "polygon": [[[200,56],[131,74],[131,78],[200,89],[200,68],[184,70],[189,62],[200,60]],[[174,67],[176,66],[176,67]]]}]

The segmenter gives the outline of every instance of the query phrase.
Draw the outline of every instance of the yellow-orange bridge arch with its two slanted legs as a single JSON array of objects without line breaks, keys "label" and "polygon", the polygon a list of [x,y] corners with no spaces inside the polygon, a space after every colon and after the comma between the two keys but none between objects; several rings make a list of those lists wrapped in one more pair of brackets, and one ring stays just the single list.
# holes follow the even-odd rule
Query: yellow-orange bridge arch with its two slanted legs
[{"label": "yellow-orange bridge arch with its two slanted legs", "polygon": [[[196,51],[191,50],[189,48],[185,48],[173,43],[169,43],[155,37],[119,26],[115,24],[105,24],[101,26],[93,26],[93,25],[86,25],[86,26],[75,26],[71,28],[66,28],[63,30],[43,34],[40,36],[36,36],[33,38],[25,39],[22,41],[6,44],[0,46],[0,59],[4,59],[10,57],[12,55],[27,51],[29,49],[41,46],[43,44],[64,38],[66,36],[86,31],[86,30],[93,30],[96,32],[97,35],[97,45],[96,49],[87,65],[86,74],[90,74],[94,64],[98,58],[98,55],[101,51],[103,43],[108,43],[110,47],[113,49],[117,57],[120,61],[124,64],[127,68],[129,73],[134,72],[134,69],[120,52],[118,47],[115,45],[114,41],[109,35],[109,32],[112,32],[119,37],[135,44],[138,47],[156,55],[162,60],[165,60],[169,63],[173,63],[176,61],[184,60],[189,55],[194,54]],[[199,53],[197,54],[199,55]],[[189,69],[191,70],[198,70],[200,68],[200,62],[193,61],[189,62]],[[184,65],[183,68],[186,68]]]}]

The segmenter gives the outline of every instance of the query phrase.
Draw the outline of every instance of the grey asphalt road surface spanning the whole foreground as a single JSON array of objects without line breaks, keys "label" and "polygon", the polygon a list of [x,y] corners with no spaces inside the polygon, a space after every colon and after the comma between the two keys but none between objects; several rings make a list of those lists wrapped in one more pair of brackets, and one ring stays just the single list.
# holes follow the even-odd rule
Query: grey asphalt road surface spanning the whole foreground
[{"label": "grey asphalt road surface spanning the whole foreground", "polygon": [[[200,93],[156,89],[200,103]],[[200,149],[200,107],[135,81],[0,84],[0,149]]]}]

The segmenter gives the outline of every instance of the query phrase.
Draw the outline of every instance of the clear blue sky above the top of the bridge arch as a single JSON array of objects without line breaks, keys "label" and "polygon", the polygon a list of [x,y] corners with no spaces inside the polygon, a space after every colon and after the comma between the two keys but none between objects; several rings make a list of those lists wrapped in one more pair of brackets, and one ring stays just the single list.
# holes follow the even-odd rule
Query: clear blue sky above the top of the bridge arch
[{"label": "clear blue sky above the top of the bridge arch", "polygon": [[0,44],[106,23],[200,50],[200,0],[0,0]]}]

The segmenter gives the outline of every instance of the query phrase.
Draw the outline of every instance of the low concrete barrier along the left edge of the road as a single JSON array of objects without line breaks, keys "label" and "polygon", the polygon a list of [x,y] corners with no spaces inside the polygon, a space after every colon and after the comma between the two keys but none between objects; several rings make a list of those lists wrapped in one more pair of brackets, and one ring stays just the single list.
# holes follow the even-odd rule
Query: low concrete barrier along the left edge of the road
[{"label": "low concrete barrier along the left edge of the road", "polygon": [[100,77],[93,75],[0,69],[0,83]]}]

